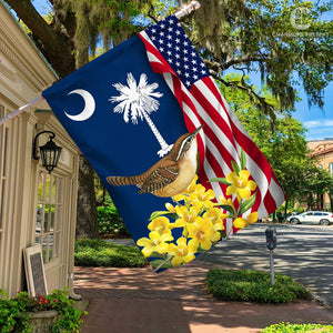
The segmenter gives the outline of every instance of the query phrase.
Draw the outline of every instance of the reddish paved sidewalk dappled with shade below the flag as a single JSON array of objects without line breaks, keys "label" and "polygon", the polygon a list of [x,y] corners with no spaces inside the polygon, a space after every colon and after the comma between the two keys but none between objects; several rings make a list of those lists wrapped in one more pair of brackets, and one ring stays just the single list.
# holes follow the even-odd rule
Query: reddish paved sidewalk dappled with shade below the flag
[{"label": "reddish paved sidewalk dappled with shade below the flag", "polygon": [[333,322],[319,303],[218,302],[204,279],[214,264],[194,261],[155,274],[151,268],[75,268],[75,293],[89,300],[81,333],[245,333],[279,322]]}]

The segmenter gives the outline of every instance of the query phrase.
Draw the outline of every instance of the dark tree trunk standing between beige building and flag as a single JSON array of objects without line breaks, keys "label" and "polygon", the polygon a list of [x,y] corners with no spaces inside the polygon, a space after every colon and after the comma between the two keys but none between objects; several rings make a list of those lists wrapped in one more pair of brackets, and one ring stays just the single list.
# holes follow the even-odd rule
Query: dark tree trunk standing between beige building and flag
[{"label": "dark tree trunk standing between beige building and flag", "polygon": [[97,202],[93,183],[93,169],[81,155],[79,163],[79,190],[77,211],[77,239],[98,239]]}]

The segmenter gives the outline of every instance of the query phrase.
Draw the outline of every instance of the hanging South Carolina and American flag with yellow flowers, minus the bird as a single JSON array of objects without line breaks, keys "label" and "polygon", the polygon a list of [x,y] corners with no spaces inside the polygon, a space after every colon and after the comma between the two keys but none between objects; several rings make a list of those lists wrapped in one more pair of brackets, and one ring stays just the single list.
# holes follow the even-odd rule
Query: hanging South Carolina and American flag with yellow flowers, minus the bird
[{"label": "hanging South Carolina and American flag with yellow flowers, minus the bird", "polygon": [[[104,183],[155,271],[191,261],[221,236],[266,216],[284,201],[271,167],[174,16],[42,94]],[[201,125],[199,180],[184,194],[173,200],[139,194],[135,185],[107,181],[144,173],[168,155],[178,138]]]}]

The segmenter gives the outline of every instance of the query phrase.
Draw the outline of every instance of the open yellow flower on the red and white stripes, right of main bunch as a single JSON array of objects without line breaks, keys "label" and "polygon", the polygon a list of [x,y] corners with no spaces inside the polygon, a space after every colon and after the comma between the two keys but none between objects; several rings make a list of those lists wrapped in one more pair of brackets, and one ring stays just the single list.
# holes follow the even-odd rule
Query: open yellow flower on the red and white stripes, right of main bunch
[{"label": "open yellow flower on the red and white stripes, right of main bunch", "polygon": [[248,170],[241,170],[239,175],[235,172],[231,172],[226,175],[226,181],[231,183],[226,188],[226,195],[236,194],[238,198],[248,200],[251,196],[251,191],[254,191],[256,183],[249,180],[250,172]]}]

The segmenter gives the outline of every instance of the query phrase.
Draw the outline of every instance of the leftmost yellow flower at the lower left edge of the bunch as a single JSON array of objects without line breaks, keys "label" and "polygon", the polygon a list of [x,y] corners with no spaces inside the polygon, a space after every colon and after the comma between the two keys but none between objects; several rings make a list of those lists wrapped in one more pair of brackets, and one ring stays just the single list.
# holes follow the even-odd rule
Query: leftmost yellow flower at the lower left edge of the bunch
[{"label": "leftmost yellow flower at the lower left edge of the bunch", "polygon": [[142,238],[138,240],[137,244],[139,246],[144,246],[141,251],[144,256],[149,256],[153,252],[165,253],[169,249],[168,241],[172,241],[173,236],[171,233],[160,234],[158,231],[151,231],[148,238]]}]

